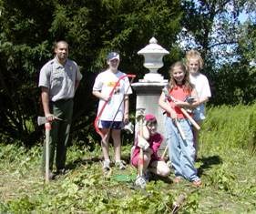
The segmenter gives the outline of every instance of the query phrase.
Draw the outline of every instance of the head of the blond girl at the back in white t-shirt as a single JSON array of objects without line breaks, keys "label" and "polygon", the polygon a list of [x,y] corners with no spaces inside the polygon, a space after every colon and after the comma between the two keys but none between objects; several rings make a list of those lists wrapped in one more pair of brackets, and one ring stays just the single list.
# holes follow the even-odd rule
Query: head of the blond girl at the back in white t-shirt
[{"label": "head of the blond girl at the back in white t-shirt", "polygon": [[189,50],[186,54],[186,64],[191,75],[195,75],[203,68],[203,60],[200,52],[197,50]]}]

